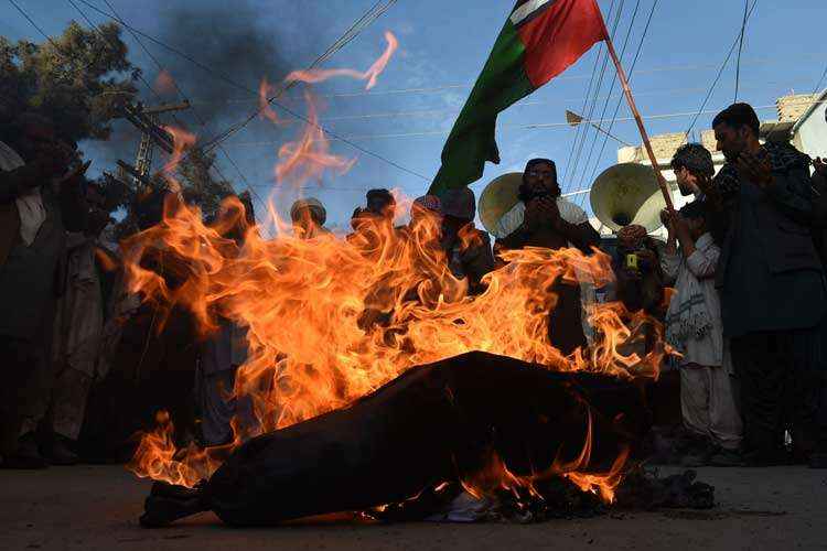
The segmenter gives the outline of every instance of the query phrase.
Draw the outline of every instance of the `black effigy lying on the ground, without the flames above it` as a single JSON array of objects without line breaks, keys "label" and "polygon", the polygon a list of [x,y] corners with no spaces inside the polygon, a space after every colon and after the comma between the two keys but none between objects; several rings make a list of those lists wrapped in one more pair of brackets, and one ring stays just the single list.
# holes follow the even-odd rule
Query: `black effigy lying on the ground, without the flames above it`
[{"label": "black effigy lying on the ground, without the flames above it", "polygon": [[250,440],[191,493],[157,486],[142,523],[214,510],[230,525],[272,525],[451,484],[476,498],[539,496],[554,476],[611,500],[647,429],[641,390],[627,381],[469,353]]}]

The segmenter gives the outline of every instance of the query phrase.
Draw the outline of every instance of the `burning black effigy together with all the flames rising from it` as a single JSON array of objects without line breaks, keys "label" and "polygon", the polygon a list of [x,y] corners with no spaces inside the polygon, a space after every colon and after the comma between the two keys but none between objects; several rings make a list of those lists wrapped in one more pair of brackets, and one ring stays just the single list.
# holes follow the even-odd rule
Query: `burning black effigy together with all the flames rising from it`
[{"label": "burning black effigy together with all the flames rising from it", "polygon": [[[288,79],[345,74],[373,86],[396,47],[387,41],[365,73]],[[269,89],[264,82],[264,116],[281,123],[267,109]],[[305,99],[310,119],[278,151],[281,184],[352,165],[329,151]],[[347,239],[305,238],[271,204],[277,235],[266,239],[229,197],[205,223],[171,176],[194,138],[170,133],[172,193],[162,220],[121,244],[126,279],[153,307],[158,331],[173,309],[189,313],[202,338],[226,323],[240,329],[246,361],[229,393],[249,408],[233,419],[232,441],[213,447],[178,449],[174,419],[159,413],[130,464],[157,480],[144,526],[202,510],[233,525],[337,511],[378,518],[434,497],[450,507],[458,496],[504,491],[520,508],[545,499],[551,480],[615,499],[649,426],[643,385],[668,353],[662,327],[622,303],[592,303],[587,347],[565,355],[548,339],[555,289],[609,284],[609,256],[504,251],[503,266],[471,292],[449,268],[433,216],[366,224]]]}]

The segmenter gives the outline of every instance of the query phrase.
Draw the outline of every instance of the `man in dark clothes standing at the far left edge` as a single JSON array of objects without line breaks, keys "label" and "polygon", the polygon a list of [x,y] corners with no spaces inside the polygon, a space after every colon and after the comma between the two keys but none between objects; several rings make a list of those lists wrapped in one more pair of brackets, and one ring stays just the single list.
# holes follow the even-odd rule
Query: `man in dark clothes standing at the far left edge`
[{"label": "man in dark clothes standing at the far left edge", "polygon": [[54,382],[55,303],[63,290],[66,230],[85,228],[79,180],[88,166],[51,120],[23,114],[0,142],[0,454],[7,468],[46,466],[35,429]]}]

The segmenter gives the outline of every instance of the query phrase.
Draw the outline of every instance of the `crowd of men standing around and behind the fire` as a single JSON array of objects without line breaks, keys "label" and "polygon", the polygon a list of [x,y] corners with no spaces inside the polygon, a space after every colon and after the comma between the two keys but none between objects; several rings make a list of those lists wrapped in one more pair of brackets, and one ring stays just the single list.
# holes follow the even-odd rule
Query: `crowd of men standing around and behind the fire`
[{"label": "crowd of men standing around and behind the fire", "polygon": [[[680,374],[680,407],[690,435],[681,449],[684,464],[794,461],[824,467],[827,166],[787,143],[762,144],[759,119],[745,104],[721,111],[712,126],[727,163],[716,174],[702,145],[677,151],[673,169],[681,193],[694,201],[662,214],[666,244],[640,226],[619,231],[616,249],[606,250],[616,283],[601,300],[620,300],[631,313],[645,311],[662,320],[668,344],[679,353],[673,363]],[[152,408],[172,409],[173,417],[173,402],[182,417],[194,409],[198,423],[190,429],[198,443],[229,442],[230,419],[243,422],[250,415],[243,401],[227,399],[246,360],[244,329],[218,316],[218,331],[193,347],[192,365],[197,367],[192,370],[171,359],[187,347],[168,341],[155,354],[149,341],[142,346],[154,314],[128,296],[122,277],[105,277],[112,264],[100,242],[110,222],[105,190],[84,179],[88,164],[77,161],[76,145],[62,140],[52,121],[28,114],[0,138],[1,465],[39,468],[78,461],[89,396],[107,378],[119,341],[132,343],[123,348],[139,350],[130,377],[146,378],[150,393],[167,397]],[[226,209],[217,216],[233,220],[224,230],[240,245],[256,220],[249,198],[238,198],[246,216]],[[505,262],[505,250],[574,247],[593,253],[603,247],[587,213],[561,196],[551,160],[527,163],[518,198],[493,228],[492,246],[488,234],[474,226],[476,201],[469,188],[417,198],[410,223],[398,227],[394,195],[372,190],[365,206],[353,213],[353,231],[345,239],[369,253],[384,235],[415,238],[427,220],[429,246],[472,294],[484,292],[484,276]],[[138,216],[141,228],[160,220],[162,204],[161,195],[144,205]],[[290,217],[296,237],[332,238],[318,199],[296,202]],[[431,277],[428,269],[422,279]],[[365,299],[358,321],[365,331],[390,315],[383,310],[380,291],[370,290]],[[426,300],[417,289],[408,291],[412,299]],[[549,342],[566,355],[587,346],[583,304],[595,299],[561,280],[538,292],[557,296]],[[125,325],[141,318],[149,323],[130,336]],[[186,331],[175,334],[174,323],[165,331],[168,339],[196,342]],[[144,377],[140,371],[148,356],[157,365],[179,367],[161,370],[160,378]],[[121,378],[126,372],[112,370]]]}]

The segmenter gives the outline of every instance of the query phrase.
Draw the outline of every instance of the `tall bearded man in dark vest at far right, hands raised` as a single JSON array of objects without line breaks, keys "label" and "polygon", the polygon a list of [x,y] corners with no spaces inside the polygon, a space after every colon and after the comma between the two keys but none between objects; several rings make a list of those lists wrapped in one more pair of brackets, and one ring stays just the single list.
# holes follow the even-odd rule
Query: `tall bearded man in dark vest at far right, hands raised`
[{"label": "tall bearded man in dark vest at far right, hands raised", "polygon": [[759,142],[759,119],[734,104],[712,121],[727,164],[713,181],[726,222],[716,284],[741,383],[744,460],[784,461],[784,431],[804,457],[814,446],[825,282],[810,226],[808,158]]}]

